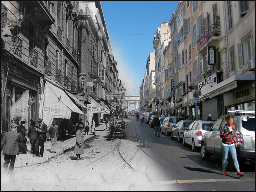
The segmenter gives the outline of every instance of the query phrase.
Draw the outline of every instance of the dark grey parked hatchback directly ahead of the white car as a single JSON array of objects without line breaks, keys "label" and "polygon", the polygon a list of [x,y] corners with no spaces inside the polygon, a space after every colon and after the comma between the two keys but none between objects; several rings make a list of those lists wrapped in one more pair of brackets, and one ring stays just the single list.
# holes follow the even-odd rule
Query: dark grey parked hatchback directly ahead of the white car
[{"label": "dark grey parked hatchback directly ahead of the white car", "polygon": [[177,138],[178,142],[182,142],[183,133],[185,132],[185,129],[187,129],[191,123],[193,123],[193,121],[181,120],[176,125],[173,125],[172,138]]}]

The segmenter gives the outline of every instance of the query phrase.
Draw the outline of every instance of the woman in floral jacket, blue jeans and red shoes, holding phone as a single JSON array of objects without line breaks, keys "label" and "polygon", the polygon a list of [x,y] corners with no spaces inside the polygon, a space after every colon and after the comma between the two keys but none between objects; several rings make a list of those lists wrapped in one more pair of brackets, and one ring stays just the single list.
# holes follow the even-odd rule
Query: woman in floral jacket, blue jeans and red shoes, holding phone
[{"label": "woman in floral jacket, blue jeans and red shoes, holding phone", "polygon": [[226,172],[226,160],[228,156],[228,152],[231,154],[236,171],[237,177],[243,177],[244,174],[240,172],[239,164],[236,158],[236,136],[235,136],[235,126],[233,125],[234,117],[230,114],[225,116],[225,121],[227,124],[223,125],[220,129],[220,138],[222,139],[222,174],[227,175]]}]

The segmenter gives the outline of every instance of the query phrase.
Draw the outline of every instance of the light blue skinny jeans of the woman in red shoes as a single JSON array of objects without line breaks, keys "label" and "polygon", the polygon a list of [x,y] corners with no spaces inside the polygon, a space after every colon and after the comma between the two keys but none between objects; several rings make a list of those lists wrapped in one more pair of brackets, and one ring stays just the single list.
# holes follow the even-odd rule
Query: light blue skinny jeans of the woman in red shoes
[{"label": "light blue skinny jeans of the woman in red shoes", "polygon": [[228,151],[232,156],[236,171],[239,171],[239,164],[236,158],[236,147],[235,145],[231,145],[231,146],[224,146],[221,145],[221,150],[222,150],[222,169],[226,169],[226,160],[227,160],[227,156],[228,156]]}]

